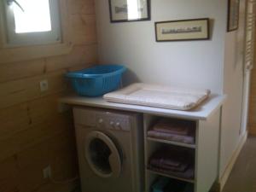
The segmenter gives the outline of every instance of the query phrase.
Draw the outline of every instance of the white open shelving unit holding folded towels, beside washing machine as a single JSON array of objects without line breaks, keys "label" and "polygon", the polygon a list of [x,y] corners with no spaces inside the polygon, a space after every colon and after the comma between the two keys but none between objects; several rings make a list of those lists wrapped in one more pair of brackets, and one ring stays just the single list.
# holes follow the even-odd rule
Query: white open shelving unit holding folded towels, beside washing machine
[{"label": "white open shelving unit holding folded towels, beside washing machine", "polygon": [[[213,181],[218,175],[218,133],[219,112],[212,115],[207,121],[200,119],[184,119],[195,121],[195,144],[177,143],[165,139],[148,137],[148,130],[157,119],[163,118],[152,114],[144,114],[144,154],[145,154],[145,191],[151,192],[151,186],[158,177],[170,177],[184,183],[193,183],[194,192],[207,191],[212,187]],[[171,119],[175,119],[169,117]],[[204,143],[202,145],[201,143]],[[155,172],[148,169],[148,161],[152,154],[163,146],[171,145],[174,148],[188,148],[195,154],[195,177],[187,179],[163,172]],[[213,153],[213,154],[212,154]],[[216,155],[216,156],[214,156]],[[216,159],[215,159],[216,158]],[[207,167],[207,169],[205,169]]]}]

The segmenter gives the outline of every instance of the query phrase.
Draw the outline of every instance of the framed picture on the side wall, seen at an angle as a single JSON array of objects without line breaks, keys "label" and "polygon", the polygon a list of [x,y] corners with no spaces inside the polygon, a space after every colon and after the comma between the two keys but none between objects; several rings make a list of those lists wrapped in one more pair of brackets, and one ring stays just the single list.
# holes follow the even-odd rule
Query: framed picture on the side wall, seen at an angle
[{"label": "framed picture on the side wall, seen at an angle", "polygon": [[240,0],[228,0],[228,32],[235,31],[239,26]]}]

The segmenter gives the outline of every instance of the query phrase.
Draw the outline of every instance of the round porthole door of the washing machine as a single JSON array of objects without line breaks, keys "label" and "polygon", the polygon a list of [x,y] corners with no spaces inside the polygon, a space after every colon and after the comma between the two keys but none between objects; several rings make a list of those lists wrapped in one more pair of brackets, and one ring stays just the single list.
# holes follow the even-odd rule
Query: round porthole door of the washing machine
[{"label": "round porthole door of the washing machine", "polygon": [[110,137],[100,131],[91,131],[85,139],[85,159],[99,177],[119,177],[121,158]]}]

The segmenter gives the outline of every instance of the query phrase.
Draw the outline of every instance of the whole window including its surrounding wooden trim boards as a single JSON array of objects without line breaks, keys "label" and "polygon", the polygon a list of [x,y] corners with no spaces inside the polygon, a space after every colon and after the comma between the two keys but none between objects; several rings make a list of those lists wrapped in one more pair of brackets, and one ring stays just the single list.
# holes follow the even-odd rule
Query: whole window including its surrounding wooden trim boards
[{"label": "whole window including its surrounding wooden trim boards", "polygon": [[67,10],[66,0],[0,0],[0,65],[70,53]]}]

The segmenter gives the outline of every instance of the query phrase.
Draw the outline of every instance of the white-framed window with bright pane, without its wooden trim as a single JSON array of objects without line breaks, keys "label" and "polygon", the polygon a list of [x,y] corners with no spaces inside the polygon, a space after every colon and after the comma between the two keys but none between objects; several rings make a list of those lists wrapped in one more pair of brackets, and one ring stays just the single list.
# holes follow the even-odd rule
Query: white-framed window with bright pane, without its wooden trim
[{"label": "white-framed window with bright pane, without its wooden trim", "polygon": [[9,46],[61,43],[57,0],[3,0]]}]

